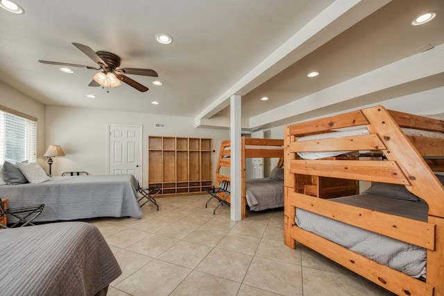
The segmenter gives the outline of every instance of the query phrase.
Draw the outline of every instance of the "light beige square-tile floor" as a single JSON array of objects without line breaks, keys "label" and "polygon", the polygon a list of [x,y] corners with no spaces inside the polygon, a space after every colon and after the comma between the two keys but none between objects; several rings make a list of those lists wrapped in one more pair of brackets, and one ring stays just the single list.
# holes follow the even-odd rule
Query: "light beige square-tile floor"
[{"label": "light beige square-tile floor", "polygon": [[209,195],[158,198],[142,219],[88,220],[121,266],[108,295],[392,295],[303,245],[284,245],[283,209],[230,220]]}]

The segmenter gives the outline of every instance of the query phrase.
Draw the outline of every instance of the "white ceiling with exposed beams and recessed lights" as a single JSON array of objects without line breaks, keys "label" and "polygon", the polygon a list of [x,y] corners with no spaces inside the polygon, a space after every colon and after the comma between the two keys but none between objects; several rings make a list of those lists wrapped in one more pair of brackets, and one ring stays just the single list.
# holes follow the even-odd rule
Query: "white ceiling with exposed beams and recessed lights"
[{"label": "white ceiling with exposed beams and recessed lights", "polygon": [[[444,85],[441,65],[441,72],[393,79],[383,88],[375,85],[355,96],[350,93],[307,107],[315,94],[334,85],[409,59],[420,54],[422,45],[443,44],[442,0],[17,3],[24,8],[23,15],[0,9],[0,81],[46,105],[196,117],[196,126],[227,126],[230,96],[241,94],[246,127],[258,129],[282,124],[284,118],[294,120],[291,113],[282,117],[280,110],[296,106],[298,100],[309,114],[354,99],[363,104],[356,99],[368,99],[374,92],[387,99],[388,93],[393,97]],[[420,27],[410,25],[427,11],[438,16]],[[156,42],[157,33],[173,36],[173,43]],[[56,65],[38,63],[95,66],[71,42],[117,54],[121,67],[155,69],[164,85],[152,85],[154,79],[148,76],[128,75],[150,90],[138,92],[123,83],[107,93],[87,86],[95,70],[78,67],[74,74],[65,74]],[[443,63],[441,58],[436,63]],[[308,79],[311,70],[321,74]],[[96,99],[86,94],[95,94]],[[270,99],[262,102],[263,96]]]}]

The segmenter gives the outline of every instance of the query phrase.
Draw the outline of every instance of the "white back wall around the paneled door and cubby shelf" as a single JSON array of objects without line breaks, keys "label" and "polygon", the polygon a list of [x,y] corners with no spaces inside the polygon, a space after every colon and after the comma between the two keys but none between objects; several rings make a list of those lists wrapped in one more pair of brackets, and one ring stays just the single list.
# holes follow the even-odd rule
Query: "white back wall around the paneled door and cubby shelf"
[{"label": "white back wall around the paneled door and cubby shelf", "polygon": [[[164,123],[166,128],[155,128]],[[228,139],[228,131],[194,127],[194,118],[128,113],[85,108],[46,106],[46,145],[60,145],[66,156],[54,158],[52,174],[85,171],[90,174],[106,174],[108,124],[141,125],[143,129],[142,180],[148,185],[148,135],[212,138],[213,174],[219,156],[221,140]]]}]

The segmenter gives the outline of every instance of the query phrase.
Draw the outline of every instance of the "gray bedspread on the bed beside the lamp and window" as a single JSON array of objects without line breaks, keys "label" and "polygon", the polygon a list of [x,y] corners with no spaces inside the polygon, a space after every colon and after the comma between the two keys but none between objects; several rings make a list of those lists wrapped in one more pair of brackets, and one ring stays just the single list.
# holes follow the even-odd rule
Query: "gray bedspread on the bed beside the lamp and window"
[{"label": "gray bedspread on the bed beside the lamp and window", "polygon": [[[53,176],[38,184],[2,185],[0,196],[8,207],[44,204],[35,222],[92,217],[142,217],[132,174]],[[14,222],[8,217],[8,223]]]}]

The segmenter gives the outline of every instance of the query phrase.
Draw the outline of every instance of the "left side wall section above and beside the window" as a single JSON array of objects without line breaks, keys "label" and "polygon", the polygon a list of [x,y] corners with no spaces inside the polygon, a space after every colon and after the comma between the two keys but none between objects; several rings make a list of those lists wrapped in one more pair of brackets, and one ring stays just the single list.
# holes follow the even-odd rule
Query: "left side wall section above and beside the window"
[{"label": "left side wall section above and beside the window", "polygon": [[43,157],[44,151],[46,150],[44,143],[44,105],[1,81],[0,93],[0,105],[37,118],[37,163],[42,165],[42,167],[44,167],[44,165],[48,166],[46,159]]}]

